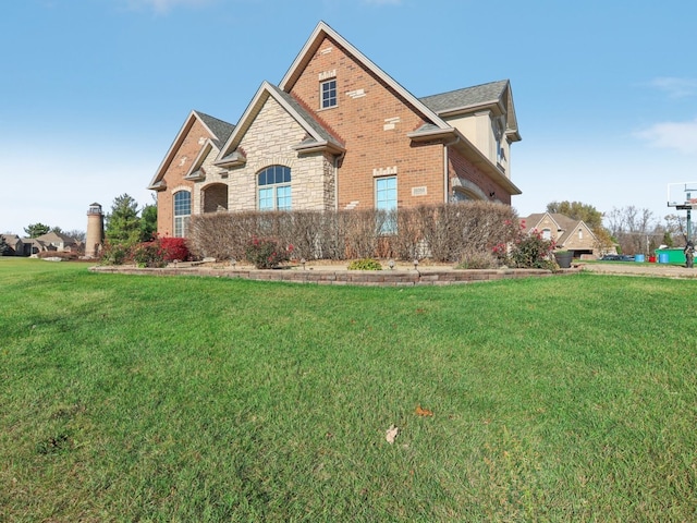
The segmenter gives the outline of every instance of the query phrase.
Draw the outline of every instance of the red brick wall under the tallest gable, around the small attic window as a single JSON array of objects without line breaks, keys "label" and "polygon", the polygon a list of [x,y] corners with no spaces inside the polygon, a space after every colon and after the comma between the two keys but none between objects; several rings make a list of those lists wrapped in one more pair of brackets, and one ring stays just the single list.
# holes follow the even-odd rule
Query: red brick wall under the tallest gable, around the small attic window
[{"label": "red brick wall under the tallest gable, around the small attic window", "polygon": [[[337,107],[319,109],[320,77],[337,78]],[[423,115],[335,41],[325,39],[291,94],[345,144],[339,209],[374,207],[375,177],[394,172],[400,207],[443,202],[442,145],[413,146],[406,136],[424,123]]]}]

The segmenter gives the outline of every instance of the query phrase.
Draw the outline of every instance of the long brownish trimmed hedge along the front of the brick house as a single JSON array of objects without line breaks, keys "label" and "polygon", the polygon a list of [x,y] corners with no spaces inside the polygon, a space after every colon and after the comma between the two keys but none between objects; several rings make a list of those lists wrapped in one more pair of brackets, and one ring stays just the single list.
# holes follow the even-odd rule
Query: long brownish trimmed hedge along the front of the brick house
[{"label": "long brownish trimmed hedge along the front of the brick house", "polygon": [[[392,233],[384,233],[386,229]],[[399,212],[367,209],[196,215],[191,221],[188,247],[199,257],[244,259],[253,238],[272,238],[293,245],[296,259],[391,257],[457,263],[468,253],[491,253],[517,234],[518,219],[512,207],[464,202]]]}]

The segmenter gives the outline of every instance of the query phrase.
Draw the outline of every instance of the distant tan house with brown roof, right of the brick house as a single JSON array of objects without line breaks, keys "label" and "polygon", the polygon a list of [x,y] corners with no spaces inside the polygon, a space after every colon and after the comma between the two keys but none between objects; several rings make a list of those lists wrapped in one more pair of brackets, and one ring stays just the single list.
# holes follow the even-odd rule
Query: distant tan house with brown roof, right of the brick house
[{"label": "distant tan house with brown roof, right of the brick house", "polygon": [[598,241],[583,220],[567,216],[540,212],[521,219],[525,232],[538,231],[546,240],[554,240],[560,251],[571,251],[575,258],[582,255],[598,256]]}]

